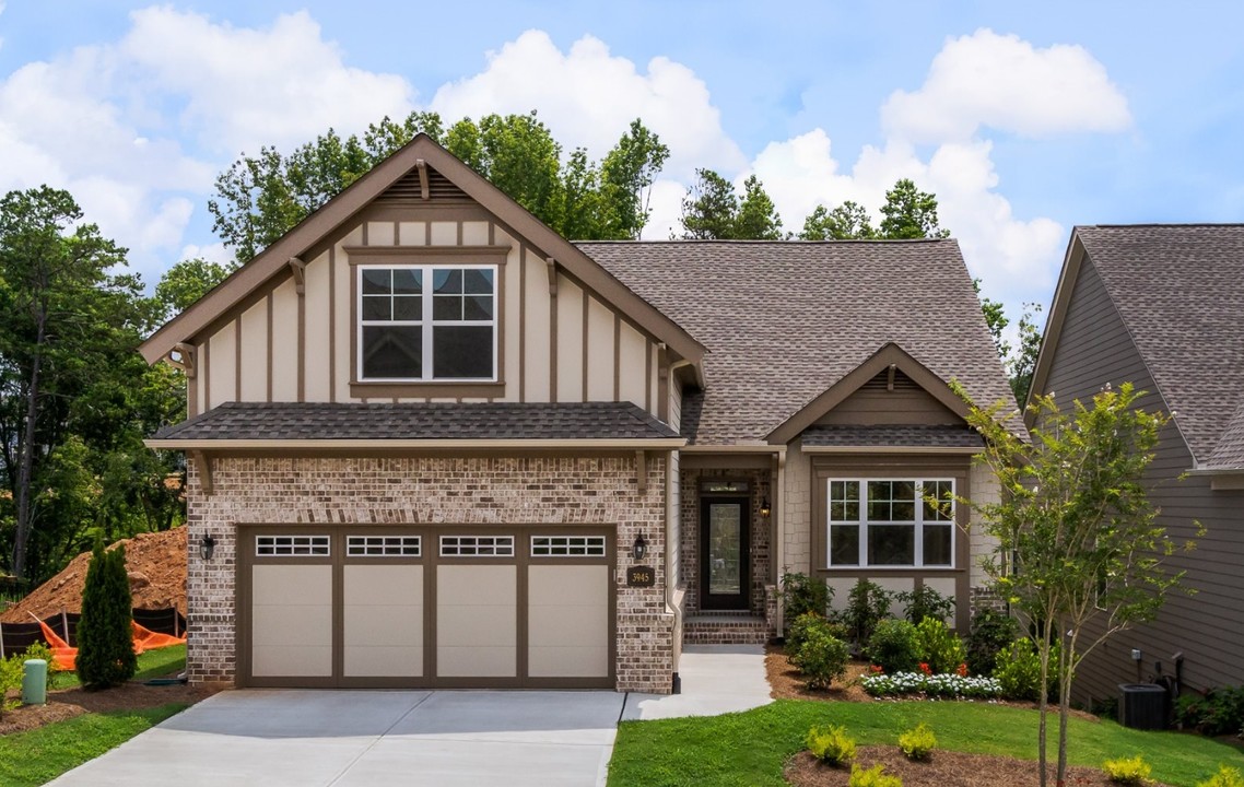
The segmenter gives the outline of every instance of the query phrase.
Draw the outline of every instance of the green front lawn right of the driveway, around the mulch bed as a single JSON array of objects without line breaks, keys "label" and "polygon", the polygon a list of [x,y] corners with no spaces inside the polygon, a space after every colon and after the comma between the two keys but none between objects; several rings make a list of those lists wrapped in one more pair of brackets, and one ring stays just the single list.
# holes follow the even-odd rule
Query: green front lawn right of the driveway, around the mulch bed
[{"label": "green front lawn right of the driveway, around the mulch bed", "polygon": [[[784,785],[782,765],[804,748],[814,725],[841,724],[861,745],[894,745],[899,732],[926,722],[938,747],[1036,760],[1034,710],[979,702],[816,702],[778,700],[725,716],[626,721],[618,726],[610,787],[677,785]],[[1057,716],[1050,716],[1051,760],[1057,755]],[[1144,732],[1113,721],[1071,719],[1072,765],[1101,767],[1107,757],[1143,752],[1153,778],[1194,787],[1219,763],[1244,767],[1244,753],[1182,732]],[[1034,766],[1035,771],[1035,766]]]}]

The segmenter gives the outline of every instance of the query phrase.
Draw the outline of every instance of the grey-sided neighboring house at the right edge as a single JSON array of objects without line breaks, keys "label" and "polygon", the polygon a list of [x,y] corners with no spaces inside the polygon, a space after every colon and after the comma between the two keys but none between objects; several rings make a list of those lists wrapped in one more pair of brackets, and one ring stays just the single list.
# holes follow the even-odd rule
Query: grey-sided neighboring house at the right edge
[{"label": "grey-sided neighboring house at the right edge", "polygon": [[1148,474],[1159,523],[1178,545],[1194,521],[1207,533],[1168,561],[1195,596],[1090,654],[1076,691],[1117,696],[1136,680],[1133,648],[1146,678],[1182,654],[1187,688],[1244,683],[1244,225],[1075,229],[1033,390],[1069,407],[1123,382],[1173,417]]}]

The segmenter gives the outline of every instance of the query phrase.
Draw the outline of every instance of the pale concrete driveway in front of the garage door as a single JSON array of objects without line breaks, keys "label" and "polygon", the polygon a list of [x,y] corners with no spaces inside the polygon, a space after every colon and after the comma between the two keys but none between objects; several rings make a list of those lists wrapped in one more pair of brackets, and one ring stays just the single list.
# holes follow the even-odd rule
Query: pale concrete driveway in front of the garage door
[{"label": "pale concrete driveway in front of the garage door", "polygon": [[60,787],[603,785],[624,694],[225,691]]}]

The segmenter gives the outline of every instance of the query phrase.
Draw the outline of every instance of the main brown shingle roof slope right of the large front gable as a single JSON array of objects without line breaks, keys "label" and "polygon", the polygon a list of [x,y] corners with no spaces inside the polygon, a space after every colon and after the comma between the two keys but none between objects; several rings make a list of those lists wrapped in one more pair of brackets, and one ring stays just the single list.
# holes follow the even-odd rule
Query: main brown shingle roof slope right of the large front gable
[{"label": "main brown shingle roof slope right of the large front gable", "polygon": [[692,443],[765,443],[891,342],[982,407],[1014,402],[953,240],[577,246],[708,348]]}]

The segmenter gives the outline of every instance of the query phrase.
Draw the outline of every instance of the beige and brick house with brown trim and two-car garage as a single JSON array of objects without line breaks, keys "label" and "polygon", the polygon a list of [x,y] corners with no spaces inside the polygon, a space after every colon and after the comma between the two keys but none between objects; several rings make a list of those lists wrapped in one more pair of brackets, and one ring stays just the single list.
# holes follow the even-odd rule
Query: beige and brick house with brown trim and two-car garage
[{"label": "beige and brick house with brown trim and two-car garage", "polygon": [[194,681],[668,693],[785,571],[983,582],[922,500],[996,495],[949,382],[1010,397],[954,241],[575,245],[420,136],[142,352]]}]

